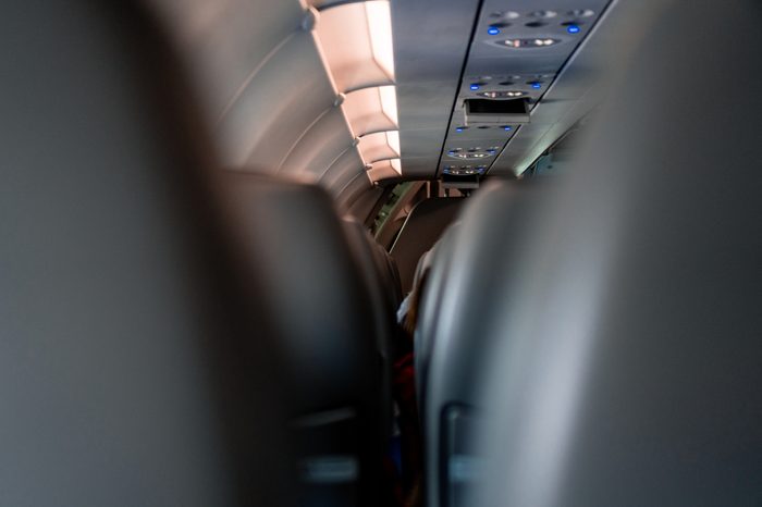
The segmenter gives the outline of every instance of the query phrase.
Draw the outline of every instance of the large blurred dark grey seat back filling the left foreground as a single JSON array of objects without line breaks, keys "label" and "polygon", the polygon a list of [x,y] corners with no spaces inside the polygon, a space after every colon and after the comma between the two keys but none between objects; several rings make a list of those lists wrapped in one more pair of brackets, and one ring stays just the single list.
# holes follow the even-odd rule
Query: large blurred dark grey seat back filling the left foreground
[{"label": "large blurred dark grey seat back filling the left foreground", "polygon": [[287,491],[257,281],[229,255],[181,65],[135,3],[0,16],[4,505]]}]

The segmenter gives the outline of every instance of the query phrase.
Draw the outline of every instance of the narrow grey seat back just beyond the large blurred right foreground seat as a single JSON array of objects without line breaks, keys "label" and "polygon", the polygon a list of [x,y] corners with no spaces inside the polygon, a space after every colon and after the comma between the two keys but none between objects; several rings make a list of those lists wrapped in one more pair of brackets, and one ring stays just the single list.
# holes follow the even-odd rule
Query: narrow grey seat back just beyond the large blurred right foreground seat
[{"label": "narrow grey seat back just beyond the large blurred right foreground seat", "polygon": [[521,272],[517,262],[540,189],[492,182],[469,199],[460,221],[431,252],[416,329],[416,372],[426,436],[427,505],[465,505],[475,453],[469,442],[479,406],[475,384],[490,350],[484,314],[514,302],[493,298]]}]

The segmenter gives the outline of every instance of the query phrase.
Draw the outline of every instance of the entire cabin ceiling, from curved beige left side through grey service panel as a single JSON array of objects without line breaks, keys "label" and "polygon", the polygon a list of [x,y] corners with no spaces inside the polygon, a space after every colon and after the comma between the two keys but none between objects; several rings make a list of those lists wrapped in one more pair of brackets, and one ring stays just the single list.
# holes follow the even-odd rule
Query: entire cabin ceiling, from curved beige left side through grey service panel
[{"label": "entire cabin ceiling, from curved beige left side through grey service panel", "polygon": [[[157,0],[225,164],[340,202],[374,182],[520,174],[594,107],[586,47],[609,3]],[[470,99],[527,100],[528,121],[467,116]]]}]

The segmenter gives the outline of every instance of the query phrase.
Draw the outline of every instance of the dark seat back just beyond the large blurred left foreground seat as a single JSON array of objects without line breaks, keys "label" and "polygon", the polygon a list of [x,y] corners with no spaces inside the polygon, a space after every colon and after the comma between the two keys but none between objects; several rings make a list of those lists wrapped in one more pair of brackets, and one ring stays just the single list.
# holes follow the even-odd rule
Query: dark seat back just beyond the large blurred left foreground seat
[{"label": "dark seat back just beyond the large blurred left foreground seat", "polygon": [[283,356],[300,505],[381,505],[393,321],[371,247],[318,186],[228,171],[225,189]]}]

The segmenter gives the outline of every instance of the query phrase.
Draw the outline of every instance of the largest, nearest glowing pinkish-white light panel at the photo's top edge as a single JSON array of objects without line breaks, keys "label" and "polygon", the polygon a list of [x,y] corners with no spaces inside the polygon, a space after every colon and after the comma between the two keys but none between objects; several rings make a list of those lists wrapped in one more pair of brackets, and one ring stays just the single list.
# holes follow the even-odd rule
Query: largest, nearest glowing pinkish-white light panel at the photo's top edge
[{"label": "largest, nearest glowing pinkish-white light panel at the photo's top edge", "polygon": [[320,12],[315,35],[339,92],[394,83],[389,1],[325,9]]}]

